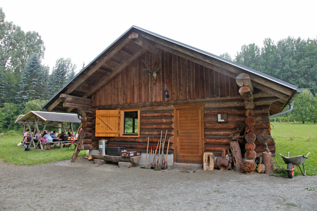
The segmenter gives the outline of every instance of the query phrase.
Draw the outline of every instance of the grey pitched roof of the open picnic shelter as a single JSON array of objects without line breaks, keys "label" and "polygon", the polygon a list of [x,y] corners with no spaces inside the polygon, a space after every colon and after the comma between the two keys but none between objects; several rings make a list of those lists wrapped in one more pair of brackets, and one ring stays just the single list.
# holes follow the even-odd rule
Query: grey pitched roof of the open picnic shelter
[{"label": "grey pitched roof of the open picnic shelter", "polygon": [[55,113],[45,111],[29,111],[26,115],[20,115],[15,123],[35,123],[35,117],[40,118],[39,123],[49,122],[76,122],[81,123],[77,114]]}]

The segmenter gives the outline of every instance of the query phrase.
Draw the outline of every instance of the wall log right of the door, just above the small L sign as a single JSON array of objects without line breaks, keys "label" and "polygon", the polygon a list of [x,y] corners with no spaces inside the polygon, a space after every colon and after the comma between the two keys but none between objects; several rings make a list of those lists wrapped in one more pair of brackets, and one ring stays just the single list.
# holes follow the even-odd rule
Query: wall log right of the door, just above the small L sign
[{"label": "wall log right of the door, just above the small L sign", "polygon": [[[255,114],[268,114],[269,106],[257,106],[253,111]],[[227,108],[204,108],[204,115],[217,115],[219,113],[227,113],[228,115],[245,114],[246,110],[241,107],[227,107]]]}]

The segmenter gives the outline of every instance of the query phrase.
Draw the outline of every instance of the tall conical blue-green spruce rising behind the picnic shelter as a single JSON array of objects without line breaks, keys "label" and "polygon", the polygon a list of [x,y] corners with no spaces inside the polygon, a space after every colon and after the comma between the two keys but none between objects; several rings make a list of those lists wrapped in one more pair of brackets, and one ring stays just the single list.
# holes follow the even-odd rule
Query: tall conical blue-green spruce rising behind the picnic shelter
[{"label": "tall conical blue-green spruce rising behind the picnic shelter", "polygon": [[19,84],[17,101],[24,103],[30,100],[43,100],[45,93],[45,79],[40,59],[34,54],[25,69],[22,71],[22,78]]}]

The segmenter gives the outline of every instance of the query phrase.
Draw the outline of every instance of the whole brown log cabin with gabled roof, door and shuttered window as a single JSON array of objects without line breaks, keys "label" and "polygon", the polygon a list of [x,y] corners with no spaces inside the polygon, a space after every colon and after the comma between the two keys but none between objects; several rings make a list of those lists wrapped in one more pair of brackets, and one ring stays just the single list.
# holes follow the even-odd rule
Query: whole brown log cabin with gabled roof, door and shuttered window
[{"label": "whole brown log cabin with gabled roof, door and shuttered window", "polygon": [[[219,156],[230,146],[236,121],[250,142],[243,155],[266,151],[256,134],[270,134],[269,115],[279,115],[301,92],[296,86],[143,28],[132,26],[62,87],[42,110],[76,112],[80,150],[98,141],[131,150],[157,146],[174,163],[201,164],[204,152]],[[293,107],[293,106],[291,106]],[[253,140],[252,140],[253,139]],[[249,139],[248,139],[249,140]],[[245,148],[248,146],[248,149]],[[268,142],[275,156],[275,142]]]}]

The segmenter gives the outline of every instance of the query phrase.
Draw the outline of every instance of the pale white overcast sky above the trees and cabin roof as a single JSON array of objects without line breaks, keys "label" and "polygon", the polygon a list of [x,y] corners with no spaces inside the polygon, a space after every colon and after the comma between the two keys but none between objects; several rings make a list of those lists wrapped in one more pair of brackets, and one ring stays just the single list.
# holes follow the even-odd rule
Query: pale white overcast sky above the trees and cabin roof
[{"label": "pale white overcast sky above the trees and cabin roof", "polygon": [[3,1],[7,21],[42,36],[45,59],[71,58],[81,70],[132,25],[235,58],[243,44],[315,38],[317,1]]}]

